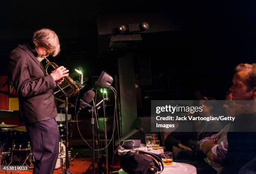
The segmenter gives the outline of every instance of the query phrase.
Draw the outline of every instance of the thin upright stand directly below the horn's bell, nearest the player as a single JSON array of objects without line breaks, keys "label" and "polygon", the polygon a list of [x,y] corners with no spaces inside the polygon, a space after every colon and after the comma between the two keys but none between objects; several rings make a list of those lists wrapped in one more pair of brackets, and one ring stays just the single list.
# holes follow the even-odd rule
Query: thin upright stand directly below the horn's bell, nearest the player
[{"label": "thin upright stand directly below the horn's bell, nearest the player", "polygon": [[66,169],[62,174],[72,174],[72,171],[69,170],[69,131],[68,131],[68,97],[66,96],[66,107],[65,107],[65,116],[66,116]]}]

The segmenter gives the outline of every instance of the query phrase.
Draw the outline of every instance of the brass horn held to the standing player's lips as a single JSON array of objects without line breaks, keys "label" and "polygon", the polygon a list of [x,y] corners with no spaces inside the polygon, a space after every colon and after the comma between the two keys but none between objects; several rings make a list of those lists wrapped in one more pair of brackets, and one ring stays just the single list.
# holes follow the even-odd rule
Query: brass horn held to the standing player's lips
[{"label": "brass horn held to the standing player's lips", "polygon": [[[58,65],[56,65],[56,63],[50,62],[47,58],[44,58],[46,60],[46,66],[44,67],[44,70],[46,71],[46,74],[49,75],[47,73],[47,69],[49,66],[52,66],[54,69],[59,68]],[[59,85],[58,88],[60,89],[60,91],[64,94],[64,96],[66,97],[71,97],[74,96],[78,91],[80,91],[80,89],[82,89],[84,87],[84,85],[82,85],[81,83],[79,83],[79,81],[73,81],[72,78],[70,78],[69,76],[64,77],[65,81],[67,81],[67,83],[69,84],[68,86],[70,86],[72,88],[72,92],[71,93],[66,93],[63,89],[66,88],[61,88]]]}]

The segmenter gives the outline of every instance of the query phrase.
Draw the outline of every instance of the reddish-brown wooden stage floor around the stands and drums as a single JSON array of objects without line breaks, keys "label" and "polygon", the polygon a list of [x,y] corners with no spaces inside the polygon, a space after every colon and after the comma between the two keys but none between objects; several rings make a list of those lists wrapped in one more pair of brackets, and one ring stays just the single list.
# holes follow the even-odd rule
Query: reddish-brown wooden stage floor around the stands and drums
[{"label": "reddish-brown wooden stage floor around the stands and drums", "polygon": [[[74,166],[70,166],[70,170],[72,171],[72,174],[83,174],[88,167],[92,164],[92,158],[76,158],[74,161],[72,161]],[[97,165],[96,165],[97,167]],[[113,166],[113,169],[115,171],[120,169],[120,166]],[[18,171],[12,171],[12,174],[17,174]],[[32,174],[32,169],[29,171],[20,171],[19,174]],[[5,171],[0,171],[0,174],[5,174]],[[7,171],[7,174],[11,174],[10,171]],[[54,170],[54,174],[61,174],[61,171],[59,169]],[[89,170],[88,174],[92,174],[92,168]],[[96,174],[97,168],[96,168]]]}]

